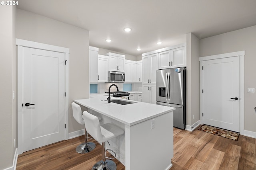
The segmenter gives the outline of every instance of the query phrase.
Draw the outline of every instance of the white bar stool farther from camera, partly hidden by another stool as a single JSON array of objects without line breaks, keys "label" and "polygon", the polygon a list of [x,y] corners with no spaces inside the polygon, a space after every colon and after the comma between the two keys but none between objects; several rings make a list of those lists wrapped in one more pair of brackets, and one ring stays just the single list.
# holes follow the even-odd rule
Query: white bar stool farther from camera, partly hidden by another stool
[{"label": "white bar stool farther from camera, partly hidden by another stool", "polygon": [[[84,119],[82,117],[82,109],[81,107],[72,102],[72,109],[73,109],[73,117],[76,119],[76,121],[81,124],[84,125]],[[76,147],[76,152],[78,153],[88,153],[92,150],[95,149],[96,145],[95,143],[92,142],[87,142],[87,138],[88,138],[88,133],[86,131],[86,128],[84,126],[84,143],[80,144],[78,147]]]}]

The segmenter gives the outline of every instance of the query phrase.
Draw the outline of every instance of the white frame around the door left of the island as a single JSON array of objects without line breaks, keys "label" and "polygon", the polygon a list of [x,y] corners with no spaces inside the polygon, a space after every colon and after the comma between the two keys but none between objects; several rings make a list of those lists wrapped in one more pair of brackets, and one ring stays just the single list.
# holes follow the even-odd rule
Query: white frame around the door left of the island
[{"label": "white frame around the door left of the island", "polygon": [[64,47],[58,47],[54,45],[48,45],[43,43],[36,43],[33,41],[27,41],[23,39],[16,39],[16,45],[18,46],[18,54],[17,54],[17,110],[18,110],[18,154],[23,153],[23,47],[29,47],[34,49],[42,49],[48,51],[55,51],[60,53],[65,53],[65,140],[68,140],[68,57],[69,57],[69,49]]}]

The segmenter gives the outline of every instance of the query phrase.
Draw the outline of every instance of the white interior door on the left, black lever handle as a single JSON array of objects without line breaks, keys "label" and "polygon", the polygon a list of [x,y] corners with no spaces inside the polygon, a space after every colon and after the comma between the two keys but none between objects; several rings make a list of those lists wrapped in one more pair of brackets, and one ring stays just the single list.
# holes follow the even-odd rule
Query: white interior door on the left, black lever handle
[{"label": "white interior door on the left, black lever handle", "polygon": [[65,54],[24,47],[23,151],[64,139]]}]

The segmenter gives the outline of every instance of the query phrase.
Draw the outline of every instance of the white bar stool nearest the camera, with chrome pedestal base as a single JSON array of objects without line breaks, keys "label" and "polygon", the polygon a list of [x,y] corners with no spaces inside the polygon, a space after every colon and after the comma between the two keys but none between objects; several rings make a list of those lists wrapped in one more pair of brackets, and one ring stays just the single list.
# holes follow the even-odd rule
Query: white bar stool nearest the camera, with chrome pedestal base
[{"label": "white bar stool nearest the camera, with chrome pedestal base", "polygon": [[[104,125],[100,125],[100,121],[98,117],[88,113],[87,111],[83,112],[82,117],[85,121],[85,127],[88,131],[88,133],[96,140],[98,143],[102,143],[102,160],[94,164],[92,167],[92,170],[116,170],[116,164],[112,160],[106,160],[106,147],[105,143],[106,141],[117,137],[119,135],[122,135],[124,131],[111,124],[106,123]],[[110,149],[107,149],[110,150]],[[111,150],[114,152],[113,150]],[[114,152],[114,158],[116,157],[116,153]],[[114,159],[109,158],[109,159]]]}]

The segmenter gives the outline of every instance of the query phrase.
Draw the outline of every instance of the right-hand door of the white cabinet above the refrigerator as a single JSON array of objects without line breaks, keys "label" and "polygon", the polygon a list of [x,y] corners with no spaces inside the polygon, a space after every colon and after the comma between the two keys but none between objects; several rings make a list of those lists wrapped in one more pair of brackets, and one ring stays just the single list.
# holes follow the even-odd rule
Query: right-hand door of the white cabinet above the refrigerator
[{"label": "right-hand door of the white cabinet above the refrigerator", "polygon": [[186,66],[186,47],[171,50],[171,68]]}]

